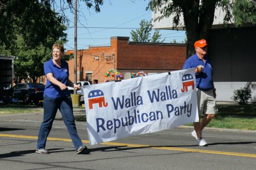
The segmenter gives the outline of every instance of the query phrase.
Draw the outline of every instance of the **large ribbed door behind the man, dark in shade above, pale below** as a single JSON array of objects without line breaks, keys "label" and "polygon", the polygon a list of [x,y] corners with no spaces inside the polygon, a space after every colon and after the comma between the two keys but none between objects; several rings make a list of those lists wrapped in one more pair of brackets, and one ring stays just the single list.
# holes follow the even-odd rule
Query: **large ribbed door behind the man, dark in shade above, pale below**
[{"label": "large ribbed door behind the man, dark in shade above, pale below", "polygon": [[256,28],[214,29],[209,41],[217,101],[232,101],[233,91],[252,90],[256,102]]}]

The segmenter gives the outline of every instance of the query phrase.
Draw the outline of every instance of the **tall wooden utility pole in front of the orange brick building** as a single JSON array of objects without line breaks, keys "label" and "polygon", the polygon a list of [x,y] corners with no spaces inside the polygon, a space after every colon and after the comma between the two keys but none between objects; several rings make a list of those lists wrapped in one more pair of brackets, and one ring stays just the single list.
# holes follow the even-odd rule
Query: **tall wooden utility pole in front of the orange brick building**
[{"label": "tall wooden utility pole in front of the orange brick building", "polygon": [[[75,0],[74,12],[74,84],[77,84],[77,0]],[[75,90],[75,88],[74,94],[77,94],[77,90]]]}]

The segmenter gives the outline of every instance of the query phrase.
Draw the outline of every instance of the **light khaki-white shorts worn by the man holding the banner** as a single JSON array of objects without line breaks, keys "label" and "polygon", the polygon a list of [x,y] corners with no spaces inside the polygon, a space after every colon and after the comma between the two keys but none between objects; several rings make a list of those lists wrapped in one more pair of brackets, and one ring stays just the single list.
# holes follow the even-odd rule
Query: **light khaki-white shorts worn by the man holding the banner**
[{"label": "light khaki-white shorts worn by the man holding the banner", "polygon": [[197,107],[199,116],[217,113],[218,109],[212,90],[203,91],[197,88]]}]

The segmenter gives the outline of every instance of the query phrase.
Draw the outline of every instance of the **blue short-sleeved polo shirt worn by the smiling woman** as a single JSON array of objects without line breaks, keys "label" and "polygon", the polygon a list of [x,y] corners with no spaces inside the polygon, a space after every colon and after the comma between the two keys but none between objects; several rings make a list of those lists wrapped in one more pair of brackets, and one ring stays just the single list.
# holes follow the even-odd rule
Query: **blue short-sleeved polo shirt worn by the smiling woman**
[{"label": "blue short-sleeved polo shirt worn by the smiling woman", "polygon": [[[52,58],[44,63],[44,73],[45,76],[47,75],[47,73],[52,73],[54,78],[66,85],[68,76],[70,75],[68,71],[68,64],[66,61],[61,60],[61,67],[59,68],[59,66],[53,63]],[[44,90],[44,97],[45,95],[47,95],[49,98],[62,98],[68,97],[70,95],[70,92],[67,88],[65,90],[61,90],[59,86],[52,84],[47,79]]]}]

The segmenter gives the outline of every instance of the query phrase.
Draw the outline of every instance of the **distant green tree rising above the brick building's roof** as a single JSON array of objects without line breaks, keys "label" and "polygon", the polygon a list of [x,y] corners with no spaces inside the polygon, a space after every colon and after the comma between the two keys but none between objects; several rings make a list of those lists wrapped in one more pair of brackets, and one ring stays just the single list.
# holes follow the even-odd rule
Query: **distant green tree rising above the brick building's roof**
[{"label": "distant green tree rising above the brick building's roof", "polygon": [[130,32],[132,35],[133,41],[136,42],[163,42],[164,40],[160,41],[160,31],[155,30],[152,38],[150,37],[152,31],[152,25],[150,21],[142,19],[140,22],[140,28],[136,29],[136,31]]}]

